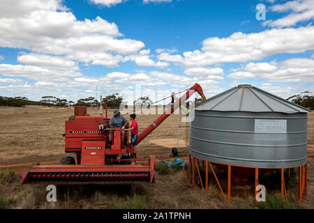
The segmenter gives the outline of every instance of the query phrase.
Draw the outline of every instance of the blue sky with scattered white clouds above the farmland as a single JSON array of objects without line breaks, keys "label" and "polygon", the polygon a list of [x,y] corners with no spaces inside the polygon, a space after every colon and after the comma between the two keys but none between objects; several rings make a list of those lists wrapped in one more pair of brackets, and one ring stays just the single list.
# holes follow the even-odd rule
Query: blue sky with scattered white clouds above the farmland
[{"label": "blue sky with scattered white clouds above the farmland", "polygon": [[[0,95],[314,90],[311,0],[0,0]],[[257,21],[256,6],[266,7]],[[3,7],[2,7],[3,6]]]}]

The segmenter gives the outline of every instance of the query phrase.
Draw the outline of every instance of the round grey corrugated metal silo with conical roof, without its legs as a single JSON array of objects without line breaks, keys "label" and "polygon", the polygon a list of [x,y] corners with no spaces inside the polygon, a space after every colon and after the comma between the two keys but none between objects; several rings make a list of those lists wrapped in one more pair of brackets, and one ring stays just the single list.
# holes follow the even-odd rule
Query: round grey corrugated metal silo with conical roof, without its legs
[{"label": "round grey corrugated metal silo with conical roof, without its legs", "polygon": [[297,167],[307,158],[308,109],[248,84],[195,108],[190,154],[241,167]]}]

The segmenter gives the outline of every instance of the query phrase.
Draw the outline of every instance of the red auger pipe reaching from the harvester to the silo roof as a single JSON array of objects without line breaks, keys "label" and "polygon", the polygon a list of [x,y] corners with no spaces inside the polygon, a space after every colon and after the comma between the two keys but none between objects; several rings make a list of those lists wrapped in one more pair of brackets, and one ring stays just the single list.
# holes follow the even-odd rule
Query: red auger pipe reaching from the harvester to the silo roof
[{"label": "red auger pipe reaching from the harvester to the silo roof", "polygon": [[158,125],[160,125],[160,123],[162,123],[163,121],[165,121],[165,119],[167,117],[170,116],[170,114],[172,114],[178,107],[180,107],[181,104],[183,104],[184,102],[186,102],[186,100],[188,100],[188,98],[190,98],[191,95],[193,95],[193,93],[197,91],[197,93],[199,93],[202,96],[202,99],[204,102],[206,102],[206,98],[205,95],[203,93],[203,89],[199,84],[194,84],[193,87],[191,87],[188,91],[186,91],[186,93],[184,95],[182,95],[181,98],[179,98],[179,100],[177,100],[176,102],[174,102],[173,105],[171,105],[171,107],[169,109],[167,109],[167,111],[165,111],[161,116],[159,116],[154,122],[152,122],[138,137],[137,137],[137,141],[136,143],[139,144],[145,137],[147,137],[147,135],[149,135],[149,133],[153,132],[154,129],[156,129],[158,127]]}]

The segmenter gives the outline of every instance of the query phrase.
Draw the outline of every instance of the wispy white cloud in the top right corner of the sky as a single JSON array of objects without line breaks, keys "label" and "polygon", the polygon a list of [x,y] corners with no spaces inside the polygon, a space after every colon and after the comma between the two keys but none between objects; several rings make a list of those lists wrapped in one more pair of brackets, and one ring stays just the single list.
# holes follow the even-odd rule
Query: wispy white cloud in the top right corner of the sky
[{"label": "wispy white cloud in the top right corner of the sky", "polygon": [[287,1],[283,4],[276,4],[270,7],[270,10],[277,13],[287,13],[288,15],[278,20],[267,20],[263,22],[264,26],[286,27],[294,26],[298,22],[304,22],[314,19],[313,0]]}]

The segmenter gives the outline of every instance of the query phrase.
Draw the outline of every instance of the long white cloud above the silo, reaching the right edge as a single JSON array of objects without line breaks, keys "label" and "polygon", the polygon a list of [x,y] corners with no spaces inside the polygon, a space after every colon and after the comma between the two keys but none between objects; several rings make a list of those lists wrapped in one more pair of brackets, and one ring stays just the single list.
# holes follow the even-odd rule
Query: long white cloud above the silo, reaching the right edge
[{"label": "long white cloud above the silo, reaching the right edge", "polygon": [[314,26],[271,29],[260,33],[233,33],[227,38],[207,38],[202,51],[184,52],[186,66],[207,66],[225,62],[245,62],[280,53],[314,49]]}]

